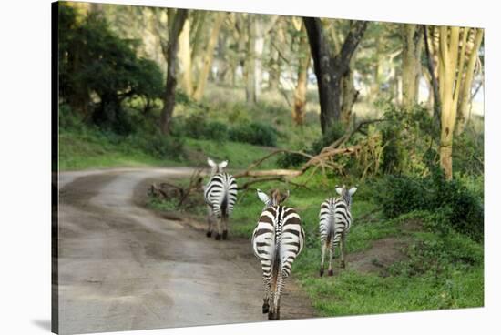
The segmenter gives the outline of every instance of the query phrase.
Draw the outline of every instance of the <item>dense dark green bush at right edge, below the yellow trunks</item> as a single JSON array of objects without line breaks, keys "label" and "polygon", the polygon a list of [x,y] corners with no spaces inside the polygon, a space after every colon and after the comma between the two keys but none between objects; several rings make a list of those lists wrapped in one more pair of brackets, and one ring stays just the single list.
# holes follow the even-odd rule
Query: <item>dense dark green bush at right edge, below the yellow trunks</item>
[{"label": "dense dark green bush at right edge, below the yellow trunks", "polygon": [[388,218],[413,210],[440,212],[442,221],[475,240],[484,236],[482,199],[457,180],[447,181],[437,170],[426,178],[388,176],[374,196]]}]

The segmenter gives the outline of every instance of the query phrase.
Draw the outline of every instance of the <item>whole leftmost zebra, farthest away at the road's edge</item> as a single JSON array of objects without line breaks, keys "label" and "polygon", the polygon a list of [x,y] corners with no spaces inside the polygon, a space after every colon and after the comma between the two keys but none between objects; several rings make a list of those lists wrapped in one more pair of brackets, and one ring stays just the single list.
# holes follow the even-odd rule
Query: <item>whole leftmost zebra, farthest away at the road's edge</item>
[{"label": "whole leftmost zebra, farthest away at the road's edge", "polygon": [[228,160],[216,164],[212,159],[208,158],[207,163],[212,168],[210,180],[203,192],[209,211],[207,216],[207,222],[209,223],[207,237],[212,236],[212,226],[214,220],[216,220],[218,222],[216,239],[220,240],[221,236],[222,239],[228,239],[228,218],[237,201],[237,182],[233,176],[222,171],[228,165]]}]

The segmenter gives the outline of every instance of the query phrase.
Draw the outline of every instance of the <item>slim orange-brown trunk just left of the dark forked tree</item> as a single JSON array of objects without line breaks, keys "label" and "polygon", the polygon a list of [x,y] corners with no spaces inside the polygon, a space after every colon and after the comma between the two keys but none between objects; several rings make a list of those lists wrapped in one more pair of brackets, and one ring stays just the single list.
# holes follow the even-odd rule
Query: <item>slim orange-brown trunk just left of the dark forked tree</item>
[{"label": "slim orange-brown trunk just left of the dark forked tree", "polygon": [[302,36],[300,37],[299,44],[298,81],[294,89],[294,104],[292,105],[292,121],[296,126],[302,126],[304,123],[306,92],[308,89],[308,68],[312,60],[304,27],[302,28]]}]

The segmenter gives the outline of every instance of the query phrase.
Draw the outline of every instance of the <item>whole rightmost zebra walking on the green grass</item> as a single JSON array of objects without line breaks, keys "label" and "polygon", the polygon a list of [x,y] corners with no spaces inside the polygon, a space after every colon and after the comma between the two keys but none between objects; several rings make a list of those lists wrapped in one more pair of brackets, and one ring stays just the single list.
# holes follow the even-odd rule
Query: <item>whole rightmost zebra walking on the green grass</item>
[{"label": "whole rightmost zebra walking on the green grass", "polygon": [[325,250],[330,247],[329,276],[332,276],[332,260],[334,259],[335,248],[341,241],[341,267],[344,269],[344,251],[346,249],[346,235],[352,225],[352,196],[357,188],[349,190],[336,186],[339,198],[328,198],[322,203],[320,208],[320,240],[322,244],[322,263],[320,266],[320,276],[323,276],[323,260]]}]

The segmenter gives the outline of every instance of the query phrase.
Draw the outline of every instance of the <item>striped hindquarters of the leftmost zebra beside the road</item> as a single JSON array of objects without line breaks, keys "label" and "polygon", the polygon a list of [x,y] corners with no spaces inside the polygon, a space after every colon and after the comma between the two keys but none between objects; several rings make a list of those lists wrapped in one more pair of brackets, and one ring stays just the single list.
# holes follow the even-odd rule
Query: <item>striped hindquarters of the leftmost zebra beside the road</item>
[{"label": "striped hindquarters of the leftmost zebra beside the road", "polygon": [[214,175],[205,187],[204,198],[217,218],[229,217],[237,201],[237,181],[228,173]]}]

